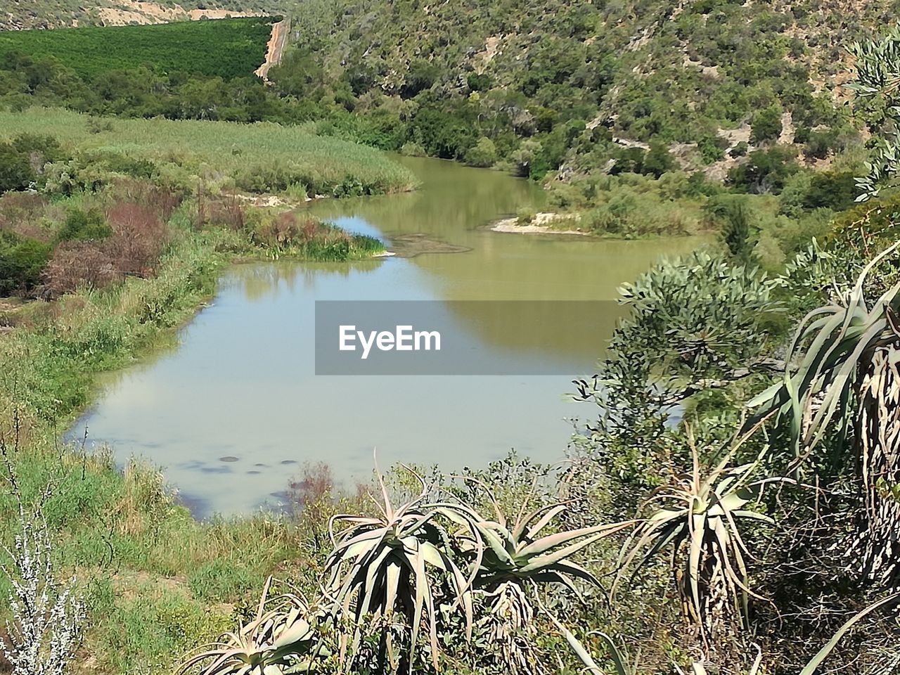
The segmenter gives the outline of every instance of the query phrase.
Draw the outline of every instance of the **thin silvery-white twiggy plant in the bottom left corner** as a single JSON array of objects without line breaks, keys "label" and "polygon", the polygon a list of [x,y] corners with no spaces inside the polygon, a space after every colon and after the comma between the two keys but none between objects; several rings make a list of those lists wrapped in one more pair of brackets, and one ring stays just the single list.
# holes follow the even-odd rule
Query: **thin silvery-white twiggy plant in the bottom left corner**
[{"label": "thin silvery-white twiggy plant in the bottom left corner", "polygon": [[13,675],[65,675],[81,642],[85,602],[76,591],[76,579],[59,582],[54,576],[46,522],[40,514],[19,508],[21,532],[6,553],[12,560],[3,567],[12,581],[9,601],[12,620],[6,622],[7,640],[0,652],[13,667]]}]

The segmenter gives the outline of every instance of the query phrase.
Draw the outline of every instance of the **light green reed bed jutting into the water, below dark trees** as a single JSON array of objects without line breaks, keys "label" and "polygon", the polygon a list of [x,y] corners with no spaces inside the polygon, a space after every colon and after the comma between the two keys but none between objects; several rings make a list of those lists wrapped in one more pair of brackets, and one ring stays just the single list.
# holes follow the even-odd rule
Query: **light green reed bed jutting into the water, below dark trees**
[{"label": "light green reed bed jutting into the water, below dark trees", "polygon": [[149,175],[188,193],[201,181],[216,184],[210,175],[219,176],[219,185],[230,179],[261,193],[283,192],[296,184],[306,186],[311,194],[329,193],[348,176],[366,194],[399,192],[416,184],[407,169],[373,148],[321,138],[298,127],[118,120],[110,129],[92,133],[89,120],[59,110],[31,110],[25,115],[0,112],[6,133],[49,133],[67,148],[80,150],[72,160],[46,167],[50,193],[93,190],[117,175]]}]

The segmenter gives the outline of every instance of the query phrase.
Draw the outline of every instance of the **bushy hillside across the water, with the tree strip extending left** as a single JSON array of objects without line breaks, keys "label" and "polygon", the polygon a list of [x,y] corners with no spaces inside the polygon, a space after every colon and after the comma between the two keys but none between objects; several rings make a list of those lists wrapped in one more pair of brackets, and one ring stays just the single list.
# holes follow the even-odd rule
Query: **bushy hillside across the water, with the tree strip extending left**
[{"label": "bushy hillside across the water, with the tree strip extending left", "polygon": [[[842,8],[840,30],[818,2],[645,5],[314,3],[271,86],[12,55],[0,103],[303,124],[495,166],[544,180],[554,209],[600,236],[721,231],[740,199],[748,255],[777,269],[859,193],[867,148],[840,104],[841,44],[887,5]],[[177,28],[199,43],[200,25]]]}]

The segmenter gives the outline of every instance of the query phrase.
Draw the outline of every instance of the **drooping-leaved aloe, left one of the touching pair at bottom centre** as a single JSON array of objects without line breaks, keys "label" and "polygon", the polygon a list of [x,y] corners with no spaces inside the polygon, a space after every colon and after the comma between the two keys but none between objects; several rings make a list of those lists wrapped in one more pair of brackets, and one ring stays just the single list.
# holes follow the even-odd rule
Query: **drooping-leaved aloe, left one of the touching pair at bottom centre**
[{"label": "drooping-leaved aloe, left one of the touching pair at bottom centre", "polygon": [[[481,560],[480,538],[467,509],[453,504],[425,503],[425,482],[410,467],[405,468],[419,482],[421,492],[417,498],[394,508],[377,462],[375,468],[383,497],[383,503],[378,504],[379,516],[338,515],[329,522],[334,550],[326,562],[329,575],[326,593],[338,612],[352,617],[356,626],[349,644],[346,637],[342,638],[341,658],[347,657],[348,646],[351,660],[356,656],[365,621],[374,625],[399,611],[411,628],[410,669],[419,626],[424,619],[428,625],[431,659],[437,670],[439,601],[431,575],[437,571],[448,581],[454,596],[451,605],[464,611],[466,637],[471,638],[471,587]],[[346,523],[347,527],[335,534],[334,526],[339,522]],[[462,531],[456,529],[460,526]],[[471,570],[466,572],[456,562],[455,551],[462,545],[475,552]],[[386,631],[383,636],[389,638]],[[387,645],[389,649],[390,646]]]}]

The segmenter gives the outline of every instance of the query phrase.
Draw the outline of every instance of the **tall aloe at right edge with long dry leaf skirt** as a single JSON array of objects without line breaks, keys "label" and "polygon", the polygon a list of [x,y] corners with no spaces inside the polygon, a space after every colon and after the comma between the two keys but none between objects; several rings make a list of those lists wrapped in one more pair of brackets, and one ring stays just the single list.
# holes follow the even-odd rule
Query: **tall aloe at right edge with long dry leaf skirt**
[{"label": "tall aloe at right edge with long dry leaf skirt", "polygon": [[869,306],[864,284],[875,257],[840,302],[806,315],[788,349],[785,374],[748,403],[752,424],[788,419],[795,466],[829,430],[851,436],[863,487],[860,527],[848,548],[871,581],[900,579],[900,284]]}]

